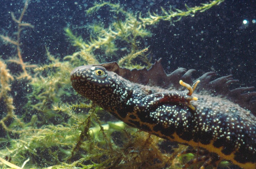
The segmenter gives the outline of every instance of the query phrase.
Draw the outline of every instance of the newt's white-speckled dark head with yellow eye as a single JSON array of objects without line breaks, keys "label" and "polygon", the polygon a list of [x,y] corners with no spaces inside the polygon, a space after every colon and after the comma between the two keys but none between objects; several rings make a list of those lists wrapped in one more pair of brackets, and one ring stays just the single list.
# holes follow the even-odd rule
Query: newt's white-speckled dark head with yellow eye
[{"label": "newt's white-speckled dark head with yellow eye", "polygon": [[73,88],[101,107],[119,104],[130,93],[125,79],[99,65],[85,65],[70,73]]}]

